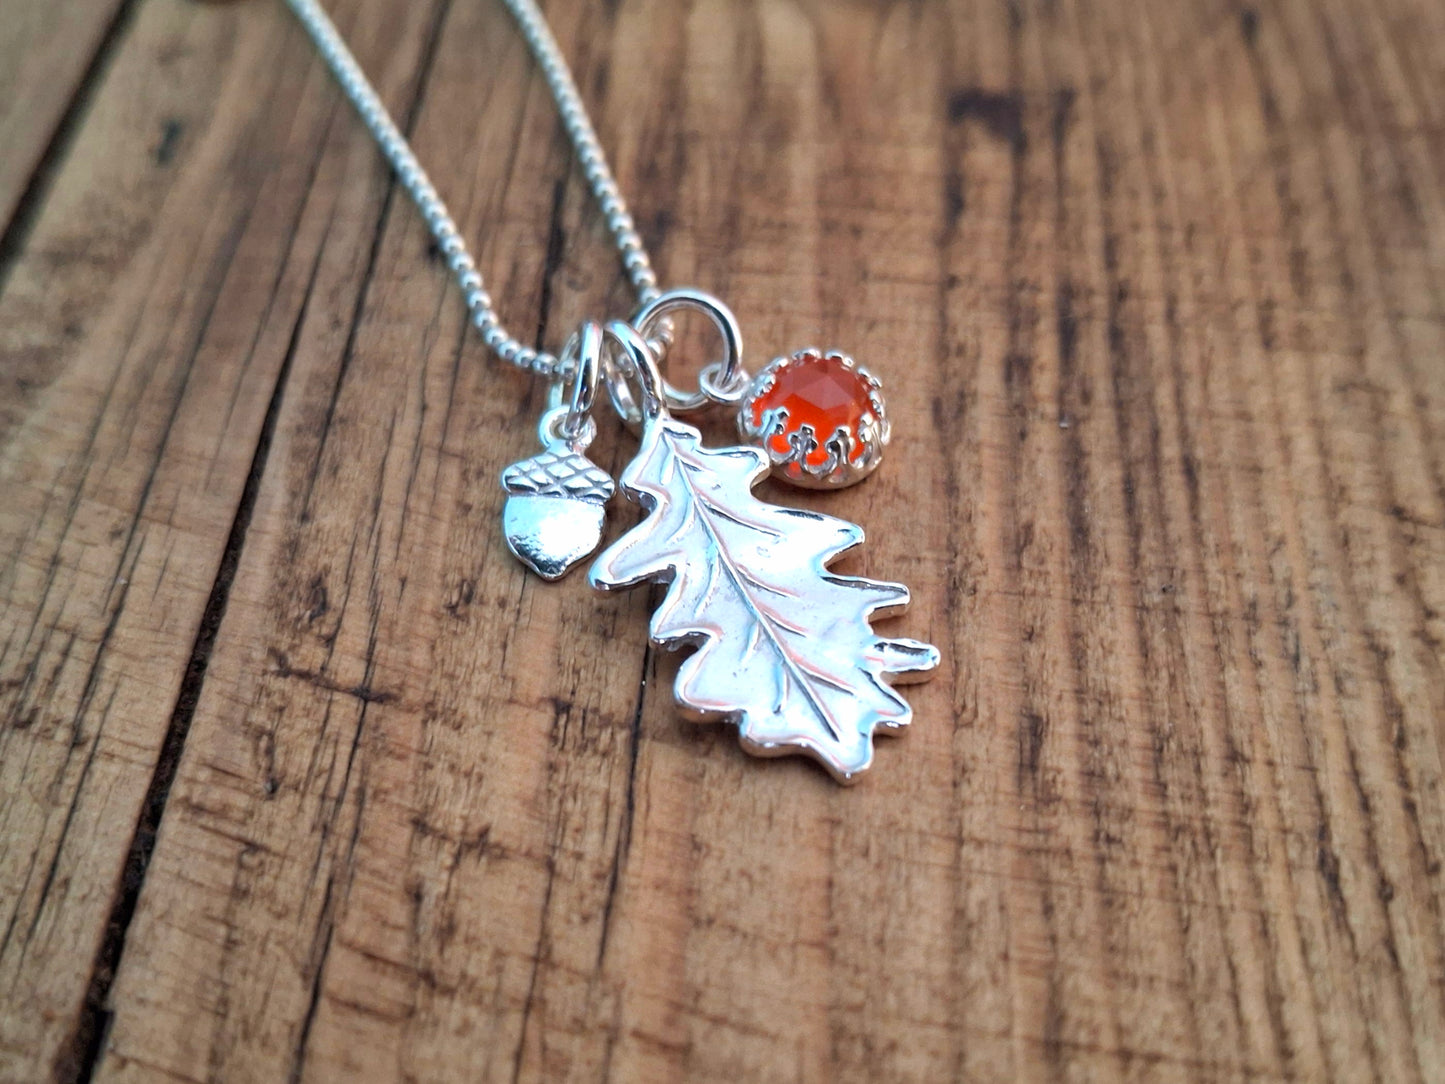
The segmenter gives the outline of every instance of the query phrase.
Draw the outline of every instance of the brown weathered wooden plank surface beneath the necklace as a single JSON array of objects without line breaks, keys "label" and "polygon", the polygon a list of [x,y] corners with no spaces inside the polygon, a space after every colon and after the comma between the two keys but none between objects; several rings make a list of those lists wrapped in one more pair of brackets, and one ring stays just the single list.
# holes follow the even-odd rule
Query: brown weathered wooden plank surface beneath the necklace
[{"label": "brown weathered wooden plank surface beneath the necklace", "polygon": [[[500,7],[331,7],[506,318],[624,311]],[[507,556],[542,393],[279,3],[0,0],[0,1080],[1445,1080],[1445,6],[546,9],[663,280],[889,379],[803,503],[912,731],[751,760]]]}]

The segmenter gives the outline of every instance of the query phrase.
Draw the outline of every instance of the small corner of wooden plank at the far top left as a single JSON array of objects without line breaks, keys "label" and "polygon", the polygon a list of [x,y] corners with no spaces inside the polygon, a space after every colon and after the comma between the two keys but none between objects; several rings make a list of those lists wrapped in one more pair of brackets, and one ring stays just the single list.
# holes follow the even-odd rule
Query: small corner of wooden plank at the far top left
[{"label": "small corner of wooden plank at the far top left", "polygon": [[43,197],[48,159],[64,155],[61,145],[84,116],[90,85],[110,61],[133,6],[133,0],[0,4],[0,237],[16,225],[27,191]]}]

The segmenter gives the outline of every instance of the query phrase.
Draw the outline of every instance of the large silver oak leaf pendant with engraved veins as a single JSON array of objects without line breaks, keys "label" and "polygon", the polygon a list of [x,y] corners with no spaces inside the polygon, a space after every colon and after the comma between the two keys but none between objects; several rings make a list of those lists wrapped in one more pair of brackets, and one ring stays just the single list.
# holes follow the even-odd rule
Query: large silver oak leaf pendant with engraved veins
[{"label": "large silver oak leaf pendant with engraved veins", "polygon": [[591,582],[668,584],[652,639],[696,648],[678,669],[678,702],[734,723],[750,753],[802,753],[851,783],[873,762],[874,731],[912,718],[893,684],[925,678],[938,649],[873,632],[907,606],[907,588],[829,572],[863,529],[757,500],[769,465],[759,448],[704,448],[665,410],[649,418],[621,476],[647,517],[597,558]]}]

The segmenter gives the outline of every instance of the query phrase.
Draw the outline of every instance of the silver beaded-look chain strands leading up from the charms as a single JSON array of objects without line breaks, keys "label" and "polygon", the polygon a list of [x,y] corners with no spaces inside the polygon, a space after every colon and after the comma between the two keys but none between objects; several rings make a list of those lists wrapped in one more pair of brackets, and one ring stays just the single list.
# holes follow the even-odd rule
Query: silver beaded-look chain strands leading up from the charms
[{"label": "silver beaded-look chain strands leading up from the charms", "polygon": [[[572,72],[566,66],[566,58],[562,56],[556,38],[552,36],[552,30],[546,25],[546,17],[535,0],[501,0],[501,3],[517,20],[517,27],[522,30],[527,48],[532,49],[532,55],[542,66],[542,75],[556,100],[562,124],[566,127],[578,162],[582,165],[582,173],[591,185],[592,197],[607,217],[607,228],[611,230],[617,250],[621,253],[623,267],[637,292],[639,305],[656,301],[659,296],[657,276],[652,270],[652,262],[643,249],[637,227],[627,212],[627,204],[617,188],[617,181],[613,179],[613,171],[607,166],[607,156],[603,153],[601,143],[597,142],[597,132],[587,116],[587,107],[582,106],[582,95],[577,90],[577,82],[572,79]],[[467,299],[471,322],[481,332],[483,341],[503,361],[546,377],[565,376],[568,369],[565,360],[526,345],[513,338],[501,325],[491,295],[487,293],[481,282],[477,262],[467,251],[467,243],[461,238],[461,231],[447,210],[447,204],[436,194],[435,185],[406,143],[406,136],[387,114],[376,88],[366,78],[361,65],[357,64],[335,23],[331,22],[318,0],[286,0],[286,4],[316,43],[321,58],[337,77],[341,90],[357,107],[361,120],[381,147],[381,153],[392,163],[392,169],[396,171],[402,188],[420,210],[426,227],[432,231],[438,249],[447,259],[447,266],[457,276],[457,283]]]}]

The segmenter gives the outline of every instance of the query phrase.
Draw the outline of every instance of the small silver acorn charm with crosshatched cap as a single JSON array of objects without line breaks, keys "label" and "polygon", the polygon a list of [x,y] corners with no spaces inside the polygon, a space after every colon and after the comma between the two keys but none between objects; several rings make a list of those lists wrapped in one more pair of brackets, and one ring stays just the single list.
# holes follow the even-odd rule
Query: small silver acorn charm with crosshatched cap
[{"label": "small silver acorn charm with crosshatched cap", "polygon": [[551,447],[501,474],[507,548],[543,580],[561,580],[603,541],[613,480],[581,448]]}]

